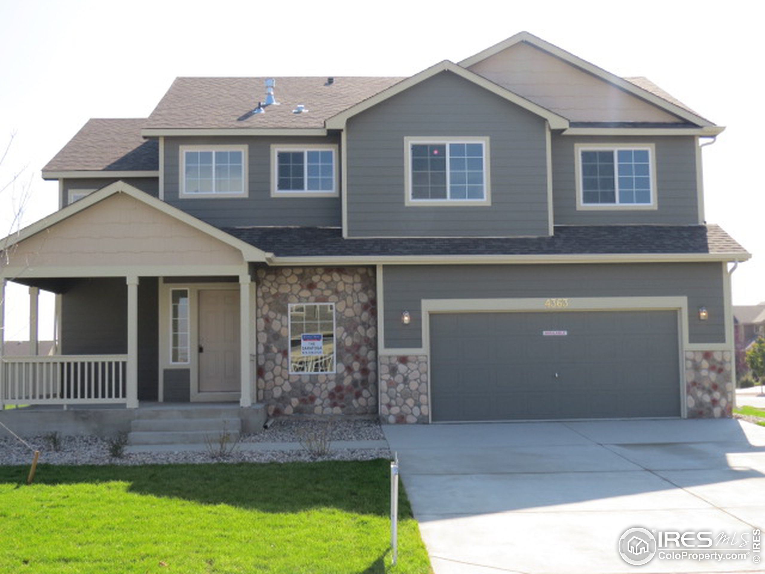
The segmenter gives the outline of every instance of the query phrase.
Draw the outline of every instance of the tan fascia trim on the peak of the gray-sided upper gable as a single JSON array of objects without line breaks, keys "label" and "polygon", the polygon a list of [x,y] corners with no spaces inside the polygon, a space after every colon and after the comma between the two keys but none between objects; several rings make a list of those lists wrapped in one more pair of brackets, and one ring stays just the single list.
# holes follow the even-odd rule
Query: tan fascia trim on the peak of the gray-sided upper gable
[{"label": "tan fascia trim on the peak of the gray-sided upper gable", "polygon": [[416,86],[418,83],[428,80],[428,78],[441,72],[455,73],[457,76],[464,78],[464,80],[472,82],[485,90],[489,90],[497,96],[500,96],[537,116],[541,116],[549,122],[551,129],[568,128],[568,119],[565,119],[563,116],[558,116],[558,114],[551,112],[549,109],[543,108],[542,106],[539,106],[539,104],[535,104],[529,99],[511,92],[510,90],[487,80],[483,76],[479,76],[477,73],[466,70],[464,67],[457,66],[457,64],[454,64],[454,62],[450,62],[449,60],[443,60],[442,62],[435,64],[435,66],[422,70],[422,72],[415,73],[414,76],[408,77],[405,80],[390,86],[386,90],[382,90],[382,92],[365,99],[363,102],[357,103],[355,106],[351,106],[343,112],[327,119],[327,121],[324,122],[324,125],[327,126],[327,129],[345,129],[345,124],[350,117],[356,116],[356,114],[362,113],[364,110],[376,106],[392,96],[396,96],[396,94],[409,90],[412,86]]}]

